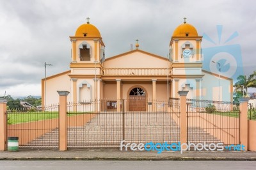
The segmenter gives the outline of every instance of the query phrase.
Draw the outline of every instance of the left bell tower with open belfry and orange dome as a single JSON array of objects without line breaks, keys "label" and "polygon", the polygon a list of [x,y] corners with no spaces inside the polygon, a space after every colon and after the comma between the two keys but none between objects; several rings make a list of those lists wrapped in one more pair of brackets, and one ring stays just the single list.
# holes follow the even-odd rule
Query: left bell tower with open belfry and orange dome
[{"label": "left bell tower with open belfry and orange dome", "polygon": [[75,103],[99,100],[100,72],[105,58],[105,45],[100,31],[87,18],[86,23],[77,28],[75,36],[70,36],[70,41],[72,55],[69,77],[72,100]]}]

